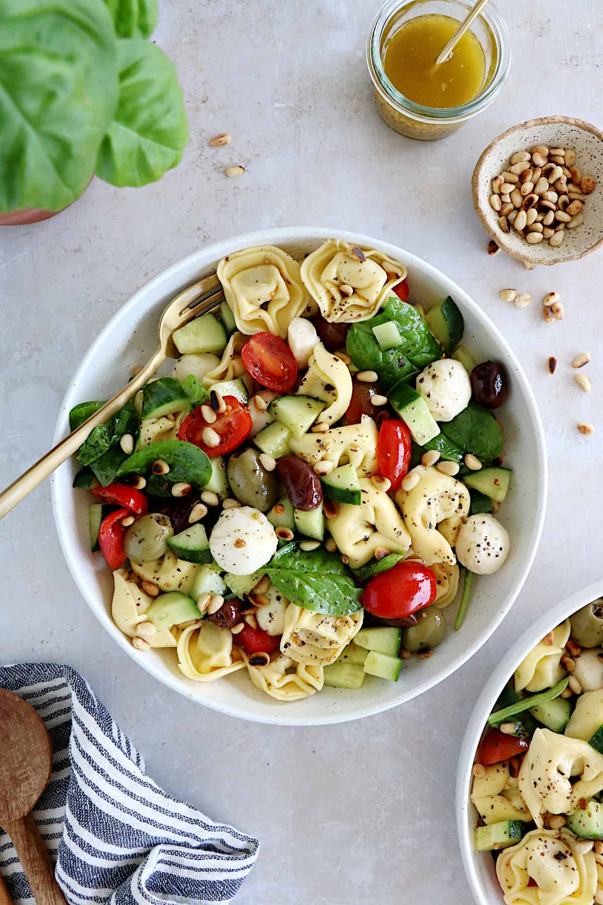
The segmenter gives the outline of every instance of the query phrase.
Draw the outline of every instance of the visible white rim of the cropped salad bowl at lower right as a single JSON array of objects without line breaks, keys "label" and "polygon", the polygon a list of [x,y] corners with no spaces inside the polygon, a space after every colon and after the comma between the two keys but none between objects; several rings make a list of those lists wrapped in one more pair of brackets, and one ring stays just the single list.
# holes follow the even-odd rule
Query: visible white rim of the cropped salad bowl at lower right
[{"label": "visible white rim of the cropped salad bowl at lower right", "polygon": [[476,757],[477,746],[485,729],[485,721],[490,716],[504,685],[516,668],[545,634],[567,619],[580,607],[603,595],[603,579],[583,588],[561,604],[554,606],[542,616],[532,628],[522,634],[513,644],[486,682],[484,691],[477,699],[476,706],[467,724],[457,767],[457,833],[466,878],[479,905],[504,905],[503,891],[496,879],[495,862],[488,852],[474,852],[473,837],[477,825],[477,812],[469,800],[471,791],[471,767]]}]

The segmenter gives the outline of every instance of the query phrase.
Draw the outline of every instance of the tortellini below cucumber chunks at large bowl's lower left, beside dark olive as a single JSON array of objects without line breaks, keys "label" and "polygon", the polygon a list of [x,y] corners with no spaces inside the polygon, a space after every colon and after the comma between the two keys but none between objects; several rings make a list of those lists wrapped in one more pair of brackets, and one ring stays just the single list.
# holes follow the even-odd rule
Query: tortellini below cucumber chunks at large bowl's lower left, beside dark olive
[{"label": "tortellini below cucumber chunks at large bowl's lower left, beside dark olive", "polygon": [[178,641],[178,667],[187,679],[216,681],[243,669],[239,649],[232,646],[230,629],[209,619],[187,626]]}]

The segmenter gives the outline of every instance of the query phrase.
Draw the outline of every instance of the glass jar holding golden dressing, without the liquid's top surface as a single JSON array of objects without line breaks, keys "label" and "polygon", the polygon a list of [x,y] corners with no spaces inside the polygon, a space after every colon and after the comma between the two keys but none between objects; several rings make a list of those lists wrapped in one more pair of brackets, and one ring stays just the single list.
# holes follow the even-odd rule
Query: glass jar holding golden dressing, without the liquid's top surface
[{"label": "glass jar holding golden dressing, without the liquid's top surface", "polygon": [[366,43],[372,96],[382,119],[401,135],[422,141],[445,138],[485,110],[503,87],[511,65],[511,45],[506,24],[492,3],[470,26],[485,57],[484,81],[473,100],[458,107],[424,107],[400,94],[385,74],[385,51],[401,25],[428,14],[448,15],[460,23],[471,6],[460,0],[389,0],[377,15]]}]

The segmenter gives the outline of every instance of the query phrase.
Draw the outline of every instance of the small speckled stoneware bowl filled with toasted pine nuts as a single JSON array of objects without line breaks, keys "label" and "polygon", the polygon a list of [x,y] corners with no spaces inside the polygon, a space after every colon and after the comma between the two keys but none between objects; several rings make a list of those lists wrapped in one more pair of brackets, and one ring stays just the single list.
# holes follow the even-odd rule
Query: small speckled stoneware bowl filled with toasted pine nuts
[{"label": "small speckled stoneware bowl filled with toasted pine nuts", "polygon": [[603,132],[583,119],[529,119],[479,158],[473,203],[495,243],[523,261],[577,261],[603,244]]}]

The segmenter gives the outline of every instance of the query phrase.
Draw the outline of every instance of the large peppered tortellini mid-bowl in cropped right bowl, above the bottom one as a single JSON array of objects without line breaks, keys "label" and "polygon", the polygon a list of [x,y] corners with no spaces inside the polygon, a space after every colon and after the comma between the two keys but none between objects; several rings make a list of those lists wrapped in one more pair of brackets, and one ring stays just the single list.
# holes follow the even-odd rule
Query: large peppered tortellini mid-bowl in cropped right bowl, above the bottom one
[{"label": "large peppered tortellini mid-bowl in cropped right bowl, above the bottom one", "polygon": [[536,826],[542,828],[547,812],[573,814],[580,798],[601,789],[602,754],[581,739],[536,729],[519,770],[519,790]]}]

